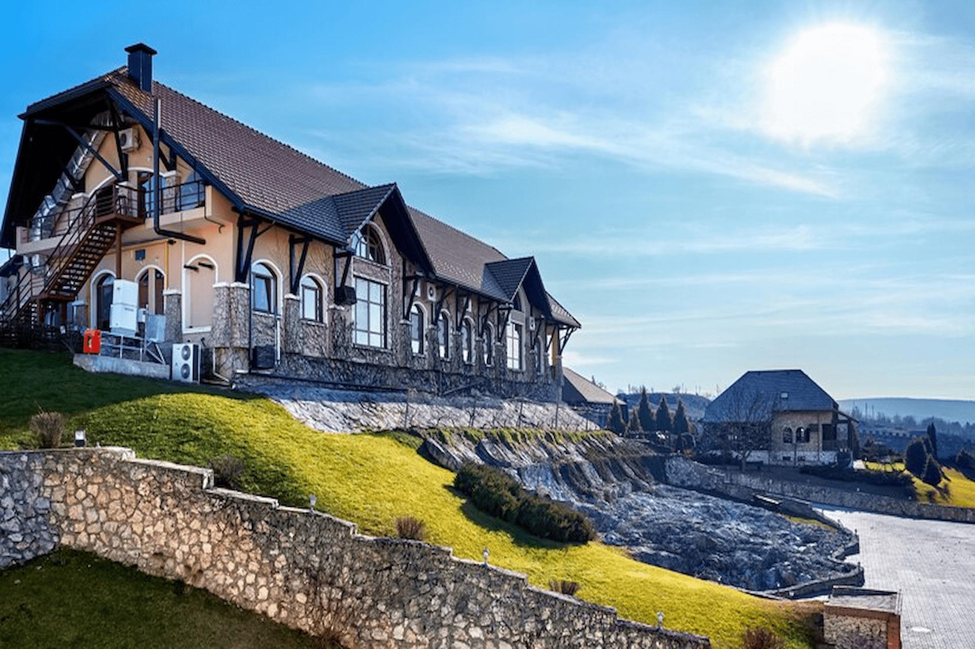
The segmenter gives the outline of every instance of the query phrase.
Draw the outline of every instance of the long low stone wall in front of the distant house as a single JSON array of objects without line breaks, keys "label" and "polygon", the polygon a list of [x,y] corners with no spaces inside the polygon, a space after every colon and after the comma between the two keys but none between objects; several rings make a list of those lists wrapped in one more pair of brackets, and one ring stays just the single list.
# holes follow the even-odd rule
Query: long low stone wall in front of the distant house
[{"label": "long low stone wall in front of the distant house", "polygon": [[756,493],[768,493],[864,512],[975,523],[975,508],[928,505],[862,491],[779,480],[759,473],[726,472],[683,457],[667,460],[667,481],[675,486],[714,491],[737,499],[750,499]]}]

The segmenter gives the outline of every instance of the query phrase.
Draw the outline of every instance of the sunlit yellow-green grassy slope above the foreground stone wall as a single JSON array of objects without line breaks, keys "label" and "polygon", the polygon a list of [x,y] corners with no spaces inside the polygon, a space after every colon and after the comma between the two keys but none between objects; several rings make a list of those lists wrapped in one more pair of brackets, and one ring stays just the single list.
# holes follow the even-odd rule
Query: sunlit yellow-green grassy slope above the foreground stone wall
[{"label": "sunlit yellow-green grassy slope above the foreground stone wall", "polygon": [[[147,380],[85,374],[66,366],[63,357],[0,351],[0,369],[16,363],[45,378],[35,383],[27,378],[33,371],[22,373],[24,379],[10,386],[14,401],[0,401],[0,448],[26,439],[26,417],[36,406],[17,401],[16,394],[29,393],[46,409],[72,412],[72,425],[84,426],[93,443],[198,465],[237,455],[248,463],[249,491],[296,505],[314,493],[320,509],[371,534],[390,534],[397,515],[416,515],[426,521],[430,541],[451,546],[458,556],[480,558],[487,547],[492,563],[525,572],[533,584],[575,580],[584,599],[650,623],[663,611],[668,627],[708,634],[716,647],[737,646],[745,627],[759,625],[788,637],[790,647],[813,644],[802,622],[812,605],[763,600],[643,564],[600,543],[565,546],[526,535],[467,505],[449,488],[450,472],[391,436],[324,435],[263,399],[176,392]],[[153,388],[166,394],[151,394]],[[75,391],[87,392],[88,407],[77,394],[65,397]]]}]

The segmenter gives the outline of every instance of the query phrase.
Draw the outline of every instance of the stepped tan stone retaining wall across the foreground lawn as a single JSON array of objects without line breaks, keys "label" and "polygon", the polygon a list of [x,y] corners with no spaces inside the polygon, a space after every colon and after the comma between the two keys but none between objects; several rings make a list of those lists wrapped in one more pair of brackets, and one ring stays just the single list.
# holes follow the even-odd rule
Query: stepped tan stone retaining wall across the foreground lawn
[{"label": "stepped tan stone retaining wall across the foreground lawn", "polygon": [[0,567],[57,544],[180,579],[348,647],[708,647],[448,548],[218,489],[126,448],[0,453]]}]

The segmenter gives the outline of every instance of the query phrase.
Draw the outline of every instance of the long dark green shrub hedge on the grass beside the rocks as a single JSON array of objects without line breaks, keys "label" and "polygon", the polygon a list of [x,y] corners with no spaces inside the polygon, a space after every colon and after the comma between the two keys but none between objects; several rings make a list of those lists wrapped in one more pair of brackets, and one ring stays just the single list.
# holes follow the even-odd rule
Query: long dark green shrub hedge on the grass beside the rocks
[{"label": "long dark green shrub hedge on the grass beside the rocks", "polygon": [[522,527],[544,539],[585,543],[596,538],[596,528],[584,515],[563,503],[526,491],[504,472],[467,463],[453,479],[453,486],[471,498],[486,514]]}]

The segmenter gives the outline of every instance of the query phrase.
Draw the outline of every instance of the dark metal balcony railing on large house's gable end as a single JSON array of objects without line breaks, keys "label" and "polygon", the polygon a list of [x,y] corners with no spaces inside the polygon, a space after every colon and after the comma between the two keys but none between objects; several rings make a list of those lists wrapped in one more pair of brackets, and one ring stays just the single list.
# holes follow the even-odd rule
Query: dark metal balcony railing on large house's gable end
[{"label": "dark metal balcony railing on large house's gable end", "polygon": [[[110,185],[96,190],[95,216],[117,214],[129,218],[148,218],[152,216],[154,196],[145,187]],[[178,185],[163,187],[161,190],[161,214],[193,210],[206,204],[206,185],[202,180],[190,180]],[[79,224],[82,210],[88,206],[86,201],[77,207],[60,210],[41,219],[35,219],[29,228],[22,230],[20,244],[62,236]]]}]

